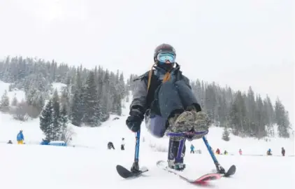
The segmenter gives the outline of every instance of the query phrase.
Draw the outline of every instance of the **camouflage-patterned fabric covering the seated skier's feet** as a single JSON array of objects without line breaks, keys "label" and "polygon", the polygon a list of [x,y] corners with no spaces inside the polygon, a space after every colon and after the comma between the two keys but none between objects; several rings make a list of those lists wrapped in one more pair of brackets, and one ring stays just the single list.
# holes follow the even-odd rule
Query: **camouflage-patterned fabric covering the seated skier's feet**
[{"label": "camouflage-patterned fabric covering the seated skier's feet", "polygon": [[[209,129],[210,119],[208,115],[199,111],[184,111],[180,115],[175,115],[168,120],[169,127],[167,132],[205,132]],[[201,139],[205,134],[196,134],[192,139]],[[180,140],[183,137],[172,137],[173,140]]]}]

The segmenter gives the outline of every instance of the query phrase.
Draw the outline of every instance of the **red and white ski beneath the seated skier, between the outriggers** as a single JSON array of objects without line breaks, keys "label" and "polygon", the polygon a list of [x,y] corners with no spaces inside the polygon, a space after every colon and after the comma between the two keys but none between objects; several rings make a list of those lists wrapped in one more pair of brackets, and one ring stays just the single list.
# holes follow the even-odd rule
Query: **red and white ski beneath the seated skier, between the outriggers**
[{"label": "red and white ski beneath the seated skier, between the outriggers", "polygon": [[196,184],[196,185],[207,185],[209,181],[218,180],[218,179],[221,179],[221,177],[222,177],[221,174],[210,173],[210,174],[203,174],[202,176],[199,176],[199,178],[197,178],[197,179],[189,179],[189,178],[187,178],[187,176],[182,176],[181,172],[178,172],[174,169],[168,168],[165,164],[166,164],[166,162],[164,162],[163,160],[159,160],[157,162],[157,167],[179,176],[180,179],[183,179],[183,180],[187,181],[188,183],[192,183],[192,184]]}]

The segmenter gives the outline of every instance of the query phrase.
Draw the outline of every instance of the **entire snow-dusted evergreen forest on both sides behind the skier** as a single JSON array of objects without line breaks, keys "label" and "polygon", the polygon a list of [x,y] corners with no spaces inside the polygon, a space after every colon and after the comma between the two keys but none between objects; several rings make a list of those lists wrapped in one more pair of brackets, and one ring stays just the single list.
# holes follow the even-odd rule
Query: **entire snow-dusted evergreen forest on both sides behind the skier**
[{"label": "entire snow-dusted evergreen forest on both sides behind the skier", "polygon": [[[123,73],[104,70],[101,66],[85,69],[82,65],[57,64],[55,60],[6,57],[0,61],[0,80],[11,83],[9,91],[24,90],[25,100],[17,102],[13,98],[10,102],[6,91],[1,97],[0,110],[9,111],[18,120],[40,118],[43,132],[47,130],[44,125],[63,130],[62,125],[68,122],[78,127],[97,127],[111,113],[121,115],[122,99],[129,100],[128,91],[134,90],[136,77],[131,74],[124,83]],[[64,83],[66,87],[58,94],[52,83]],[[233,91],[231,87],[198,79],[191,80],[191,86],[213,123],[224,127],[225,136],[230,132],[240,137],[273,136],[274,125],[278,125],[279,136],[289,137],[289,115],[280,99],[273,104],[269,97],[263,99],[260,94],[254,94],[251,87],[247,92]],[[61,115],[67,121],[63,122]],[[62,132],[48,136],[57,139]]]}]

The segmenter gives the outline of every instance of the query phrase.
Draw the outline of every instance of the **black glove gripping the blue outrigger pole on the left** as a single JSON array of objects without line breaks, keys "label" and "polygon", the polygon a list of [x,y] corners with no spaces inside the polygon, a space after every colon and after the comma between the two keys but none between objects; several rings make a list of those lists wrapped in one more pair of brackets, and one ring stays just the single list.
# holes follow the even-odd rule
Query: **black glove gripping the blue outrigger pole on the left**
[{"label": "black glove gripping the blue outrigger pole on the left", "polygon": [[132,109],[129,114],[130,116],[126,120],[126,125],[132,132],[138,132],[143,122],[143,113],[138,109]]}]

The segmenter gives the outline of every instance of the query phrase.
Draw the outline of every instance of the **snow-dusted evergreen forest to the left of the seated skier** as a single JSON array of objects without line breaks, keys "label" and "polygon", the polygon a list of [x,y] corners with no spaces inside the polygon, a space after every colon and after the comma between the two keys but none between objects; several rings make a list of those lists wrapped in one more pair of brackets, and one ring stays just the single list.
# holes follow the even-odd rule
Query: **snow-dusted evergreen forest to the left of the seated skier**
[{"label": "snow-dusted evergreen forest to the left of the seated skier", "polygon": [[[119,71],[114,73],[101,66],[90,70],[54,60],[7,57],[0,62],[0,80],[11,83],[9,91],[25,92],[24,101],[14,98],[11,103],[4,92],[1,111],[9,111],[17,120],[40,118],[41,130],[50,140],[61,139],[66,120],[78,127],[97,127],[112,113],[120,116],[122,99],[127,95]],[[64,83],[66,87],[58,94],[52,83]]]}]

